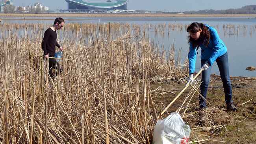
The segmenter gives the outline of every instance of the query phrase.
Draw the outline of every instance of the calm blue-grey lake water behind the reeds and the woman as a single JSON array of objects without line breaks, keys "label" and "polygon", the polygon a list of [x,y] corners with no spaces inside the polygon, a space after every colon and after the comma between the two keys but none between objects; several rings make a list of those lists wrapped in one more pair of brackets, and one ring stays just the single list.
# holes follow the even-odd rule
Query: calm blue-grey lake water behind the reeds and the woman
[{"label": "calm blue-grey lake water behind the reeds and the woman", "polygon": [[[164,45],[165,50],[169,50],[175,43],[176,50],[182,49],[183,59],[186,58],[189,45],[187,44],[186,29],[172,31],[168,29],[168,24],[189,25],[192,22],[200,22],[211,25],[217,29],[221,40],[228,48],[229,67],[231,76],[255,77],[256,70],[248,71],[246,67],[256,67],[256,18],[255,17],[63,17],[66,23],[129,23],[138,25],[149,25],[150,39],[154,43]],[[1,17],[2,22],[24,23],[23,17]],[[26,23],[53,23],[55,17],[25,17]],[[164,34],[155,34],[154,26],[166,23],[167,28]],[[223,29],[223,25],[234,25],[232,29]],[[236,27],[239,26],[239,33]],[[245,27],[245,28],[243,28]],[[225,34],[226,33],[226,34]],[[200,50],[197,55],[196,71],[200,68]],[[217,64],[213,64],[212,74],[219,74]]]}]

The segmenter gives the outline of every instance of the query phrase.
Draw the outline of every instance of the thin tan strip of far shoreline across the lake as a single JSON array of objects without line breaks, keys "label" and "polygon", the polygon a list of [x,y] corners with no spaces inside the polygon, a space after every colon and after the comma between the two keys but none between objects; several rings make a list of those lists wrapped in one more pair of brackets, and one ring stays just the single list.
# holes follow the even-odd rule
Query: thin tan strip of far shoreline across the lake
[{"label": "thin tan strip of far shoreline across the lake", "polygon": [[127,14],[127,13],[44,13],[44,14],[5,14],[0,13],[0,17],[254,17],[256,14]]}]

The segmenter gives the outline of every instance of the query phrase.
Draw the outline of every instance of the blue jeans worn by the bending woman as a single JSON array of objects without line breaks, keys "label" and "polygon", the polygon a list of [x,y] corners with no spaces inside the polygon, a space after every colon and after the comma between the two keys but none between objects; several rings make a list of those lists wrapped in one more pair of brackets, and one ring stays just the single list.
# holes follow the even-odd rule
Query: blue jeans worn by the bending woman
[{"label": "blue jeans worn by the bending woman", "polygon": [[[201,65],[204,65],[207,63],[207,61],[207,59],[201,59]],[[228,53],[226,52],[224,55],[218,57],[216,62],[219,67],[219,72],[223,83],[226,104],[233,103],[232,87],[228,69]],[[207,88],[210,82],[211,67],[212,66],[210,66],[207,70],[202,71],[202,84],[200,85],[200,94],[204,97],[204,99],[207,97]],[[206,101],[204,99],[199,95],[200,108],[206,108]]]}]

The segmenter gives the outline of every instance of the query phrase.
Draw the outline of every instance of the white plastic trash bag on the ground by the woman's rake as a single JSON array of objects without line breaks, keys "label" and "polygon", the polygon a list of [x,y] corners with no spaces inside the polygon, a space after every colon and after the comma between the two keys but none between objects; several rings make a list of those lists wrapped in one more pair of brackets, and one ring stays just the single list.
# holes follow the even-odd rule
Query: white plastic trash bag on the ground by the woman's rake
[{"label": "white plastic trash bag on the ground by the woman's rake", "polygon": [[156,122],[153,144],[188,144],[189,135],[189,126],[178,113],[173,112],[167,118]]}]

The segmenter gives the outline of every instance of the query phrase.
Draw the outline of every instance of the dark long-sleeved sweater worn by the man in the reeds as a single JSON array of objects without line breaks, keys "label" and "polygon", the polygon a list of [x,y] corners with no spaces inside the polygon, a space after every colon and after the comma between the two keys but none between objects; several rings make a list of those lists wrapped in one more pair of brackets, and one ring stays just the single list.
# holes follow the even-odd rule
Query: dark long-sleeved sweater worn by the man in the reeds
[{"label": "dark long-sleeved sweater worn by the man in the reeds", "polygon": [[55,55],[56,47],[60,48],[59,44],[56,41],[57,33],[53,31],[51,28],[45,31],[45,36],[42,41],[42,49],[44,54],[49,54],[51,56]]}]

